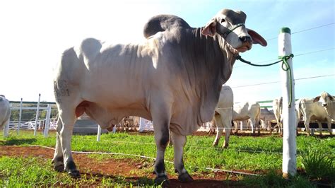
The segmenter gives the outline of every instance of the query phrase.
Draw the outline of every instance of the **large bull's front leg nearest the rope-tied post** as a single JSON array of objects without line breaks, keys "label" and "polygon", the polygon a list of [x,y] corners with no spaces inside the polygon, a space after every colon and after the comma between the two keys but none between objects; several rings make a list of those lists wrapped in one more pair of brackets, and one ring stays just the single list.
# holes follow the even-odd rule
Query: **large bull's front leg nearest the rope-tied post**
[{"label": "large bull's front leg nearest the rope-tied post", "polygon": [[180,182],[191,182],[193,178],[189,175],[189,172],[184,168],[184,161],[182,160],[184,146],[186,143],[186,136],[171,132],[173,148],[175,154],[175,172],[178,172],[178,180]]}]

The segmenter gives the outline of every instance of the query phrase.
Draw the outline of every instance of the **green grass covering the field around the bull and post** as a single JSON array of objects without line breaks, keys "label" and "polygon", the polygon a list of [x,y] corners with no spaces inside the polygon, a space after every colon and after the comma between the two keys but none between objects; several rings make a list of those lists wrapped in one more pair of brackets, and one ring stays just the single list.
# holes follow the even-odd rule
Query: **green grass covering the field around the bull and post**
[{"label": "green grass covering the field around the bull and post", "polygon": [[[278,136],[230,136],[230,146],[228,149],[220,147],[213,147],[214,136],[187,136],[187,145],[184,147],[184,163],[187,170],[192,175],[211,175],[211,170],[206,168],[216,168],[221,170],[235,170],[243,172],[258,173],[264,176],[261,177],[241,177],[240,180],[247,186],[257,181],[259,187],[268,187],[269,185],[291,186],[297,184],[304,184],[313,186],[308,180],[326,180],[326,182],[334,183],[331,177],[335,177],[335,138],[329,137],[319,139],[313,136],[298,136],[298,170],[300,173],[288,183],[280,176],[282,163],[282,138]],[[221,146],[223,139],[219,143]],[[48,138],[44,138],[41,134],[33,136],[32,132],[21,132],[19,136],[11,134],[8,139],[0,139],[2,146],[28,146],[40,145],[54,147],[55,134],[49,134]],[[72,137],[73,151],[100,151],[112,153],[124,153],[144,155],[155,158],[155,144],[153,136],[139,133],[119,133],[119,134],[103,134],[101,141],[96,141],[96,136],[73,136]],[[90,155],[90,158],[95,160],[105,160],[106,158],[130,158],[131,160],[139,160],[138,157],[132,155]],[[165,153],[165,160],[173,161],[173,148],[168,147]],[[61,182],[62,184],[73,184],[65,174],[60,174],[52,170],[52,165],[49,164],[49,158],[12,158],[3,156],[0,158],[0,175],[2,176],[3,184],[8,187],[20,186],[19,182],[23,184],[42,185],[54,184],[54,182]],[[150,160],[149,160],[150,163]],[[153,163],[153,160],[151,160]],[[311,164],[312,163],[312,164]],[[325,164],[324,164],[325,163]],[[34,165],[35,164],[35,165]],[[18,170],[8,171],[8,169],[16,169],[18,166],[30,167],[24,172],[33,173],[33,177],[25,177],[28,175],[21,175],[23,172]],[[173,165],[165,163],[168,174],[173,174]],[[314,166],[313,166],[314,165]],[[323,171],[322,174],[317,174],[317,168],[320,166],[329,169],[319,169]],[[45,168],[47,167],[47,168]],[[314,169],[313,169],[314,168]],[[152,170],[152,169],[151,169]],[[327,172],[325,172],[327,171]],[[6,173],[11,172],[11,173]],[[308,172],[308,173],[307,173]],[[18,175],[13,176],[13,174]],[[314,173],[314,174],[313,174]],[[320,174],[321,173],[321,174]],[[317,174],[317,175],[316,175]],[[35,177],[46,176],[49,182],[35,181]],[[11,179],[16,178],[16,179]],[[21,178],[22,180],[18,180]],[[259,179],[261,178],[261,179]],[[31,181],[25,181],[30,179]],[[92,181],[94,178],[90,178]],[[271,181],[269,180],[271,179]],[[334,179],[334,178],[333,178]],[[81,180],[83,181],[83,180]],[[18,182],[18,184],[13,184]],[[82,182],[76,182],[80,185]],[[134,182],[133,182],[134,183]],[[120,182],[119,180],[112,180],[107,178],[100,180],[101,185],[107,184],[127,184],[129,182]],[[136,184],[136,182],[134,183]],[[148,183],[151,186],[151,183]]]}]

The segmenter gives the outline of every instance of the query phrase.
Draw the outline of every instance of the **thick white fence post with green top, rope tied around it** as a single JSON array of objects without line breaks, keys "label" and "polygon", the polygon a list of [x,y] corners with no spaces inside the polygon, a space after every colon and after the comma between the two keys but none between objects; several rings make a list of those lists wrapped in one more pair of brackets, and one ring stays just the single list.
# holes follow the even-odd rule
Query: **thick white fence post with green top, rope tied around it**
[{"label": "thick white fence post with green top, rope tied around it", "polygon": [[[289,56],[292,54],[290,42],[290,29],[281,28],[278,36],[279,56]],[[287,59],[290,66],[281,64],[281,86],[283,95],[283,177],[295,175],[297,172],[296,141],[295,141],[295,92],[292,58]],[[288,70],[283,70],[287,69]],[[288,104],[291,102],[291,104]]]}]

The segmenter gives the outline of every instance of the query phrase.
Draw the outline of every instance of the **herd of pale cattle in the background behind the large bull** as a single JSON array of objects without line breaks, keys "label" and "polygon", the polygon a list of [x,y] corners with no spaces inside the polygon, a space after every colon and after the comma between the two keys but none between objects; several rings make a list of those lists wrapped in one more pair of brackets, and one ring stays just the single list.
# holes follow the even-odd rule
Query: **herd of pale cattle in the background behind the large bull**
[{"label": "herd of pale cattle in the background behind the large bull", "polygon": [[[269,108],[272,110],[269,110]],[[221,97],[216,107],[216,112],[211,122],[208,122],[199,130],[207,130],[208,134],[219,134],[228,132],[237,134],[240,130],[251,130],[252,134],[260,134],[260,131],[276,131],[277,134],[283,134],[283,98],[275,98],[272,102],[272,107],[261,107],[259,102],[233,102],[233,90],[229,86],[223,86]],[[297,127],[298,125],[310,135],[310,124],[317,124],[319,134],[322,135],[322,130],[329,131],[332,135],[331,124],[335,119],[335,103],[334,96],[327,92],[322,92],[315,98],[300,98],[295,101],[296,124],[290,126]],[[0,95],[0,126],[4,127],[11,117],[11,105],[4,95]],[[85,119],[85,114],[82,118]],[[303,125],[302,125],[303,124]],[[322,127],[322,124],[327,124],[327,129]],[[218,126],[217,126],[218,125]],[[303,129],[305,127],[305,129]],[[122,122],[115,126],[114,131],[139,131],[139,117],[124,117]],[[113,131],[112,129],[109,131]],[[140,130],[141,131],[141,130]],[[229,136],[229,134],[227,136]],[[218,144],[219,136],[213,145]],[[228,146],[228,143],[224,143]],[[223,147],[226,147],[223,146]]]}]

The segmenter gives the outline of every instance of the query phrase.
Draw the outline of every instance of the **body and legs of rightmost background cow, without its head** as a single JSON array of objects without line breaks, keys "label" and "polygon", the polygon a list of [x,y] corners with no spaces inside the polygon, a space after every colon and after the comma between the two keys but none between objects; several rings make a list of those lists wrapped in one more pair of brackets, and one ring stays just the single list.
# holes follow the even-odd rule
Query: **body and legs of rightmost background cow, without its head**
[{"label": "body and legs of rightmost background cow, without its head", "polygon": [[307,135],[310,136],[311,121],[317,121],[320,135],[322,135],[322,122],[327,122],[329,134],[331,134],[331,117],[322,106],[322,102],[315,101],[314,98],[302,98],[299,102],[299,112],[305,119],[304,124],[307,130]]}]

